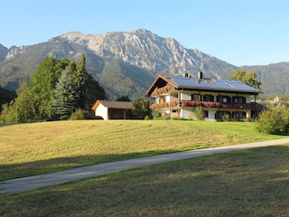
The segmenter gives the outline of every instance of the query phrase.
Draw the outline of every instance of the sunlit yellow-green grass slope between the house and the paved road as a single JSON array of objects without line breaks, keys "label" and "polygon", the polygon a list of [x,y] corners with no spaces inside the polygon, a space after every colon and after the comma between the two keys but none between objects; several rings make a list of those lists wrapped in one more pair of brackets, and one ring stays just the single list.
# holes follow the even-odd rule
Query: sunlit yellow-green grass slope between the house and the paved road
[{"label": "sunlit yellow-green grass slope between the house and the paved road", "polygon": [[85,120],[0,126],[0,181],[141,156],[281,138],[254,123]]}]

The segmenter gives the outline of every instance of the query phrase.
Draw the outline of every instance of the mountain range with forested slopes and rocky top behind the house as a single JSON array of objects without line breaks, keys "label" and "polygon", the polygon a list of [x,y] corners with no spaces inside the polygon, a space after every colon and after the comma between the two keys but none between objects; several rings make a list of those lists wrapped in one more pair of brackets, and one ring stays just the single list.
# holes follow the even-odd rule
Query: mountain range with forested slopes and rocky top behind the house
[{"label": "mountain range with forested slopes and rocky top behind the house", "polygon": [[[199,71],[203,71],[208,78],[228,79],[233,71],[239,69],[209,54],[186,49],[172,38],[163,38],[144,29],[96,35],[70,32],[30,46],[10,49],[0,46],[0,85],[15,90],[19,80],[29,78],[46,56],[79,61],[82,54],[86,56],[88,71],[107,91],[110,99],[121,95],[131,99],[144,96],[158,74],[190,73],[197,76]],[[284,62],[283,68],[279,64],[243,68],[246,71],[256,69],[266,95],[289,94],[286,85],[274,90],[268,88],[271,87],[271,74],[278,82],[284,81],[282,78],[287,73],[289,62]],[[284,70],[277,73],[281,68]]]}]

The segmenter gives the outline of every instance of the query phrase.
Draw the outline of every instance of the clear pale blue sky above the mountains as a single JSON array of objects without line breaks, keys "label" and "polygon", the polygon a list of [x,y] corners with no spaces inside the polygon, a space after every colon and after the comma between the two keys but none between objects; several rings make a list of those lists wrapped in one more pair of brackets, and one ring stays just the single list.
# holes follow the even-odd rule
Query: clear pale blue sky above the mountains
[{"label": "clear pale blue sky above the mountains", "polygon": [[146,29],[235,66],[267,65],[289,61],[288,8],[288,0],[9,0],[0,43]]}]

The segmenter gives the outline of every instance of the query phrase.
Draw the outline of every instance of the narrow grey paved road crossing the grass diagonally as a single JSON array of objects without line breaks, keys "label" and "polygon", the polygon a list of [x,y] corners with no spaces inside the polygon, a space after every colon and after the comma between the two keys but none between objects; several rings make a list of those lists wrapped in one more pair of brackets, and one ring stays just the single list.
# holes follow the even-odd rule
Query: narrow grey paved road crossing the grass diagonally
[{"label": "narrow grey paved road crossing the grass diagonally", "polygon": [[105,175],[122,170],[132,169],[144,165],[156,165],[170,161],[188,159],[197,156],[206,156],[229,151],[243,150],[260,146],[275,146],[289,143],[289,138],[275,139],[271,141],[241,144],[235,146],[219,146],[199,150],[184,151],[160,156],[147,156],[142,158],[111,162],[101,165],[89,165],[70,170],[64,170],[45,175],[34,175],[25,178],[0,182],[0,194],[21,193],[37,188],[64,184],[78,181],[98,175]]}]

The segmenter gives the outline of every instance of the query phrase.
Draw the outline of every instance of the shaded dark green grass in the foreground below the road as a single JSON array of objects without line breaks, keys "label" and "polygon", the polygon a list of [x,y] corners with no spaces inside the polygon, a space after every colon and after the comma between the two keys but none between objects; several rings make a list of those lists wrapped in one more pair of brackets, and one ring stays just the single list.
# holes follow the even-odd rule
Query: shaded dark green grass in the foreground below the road
[{"label": "shaded dark green grass in the foreground below the road", "polygon": [[0,216],[289,216],[289,145],[0,195]]}]

